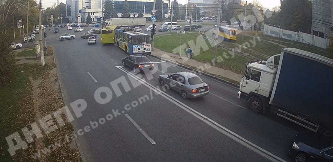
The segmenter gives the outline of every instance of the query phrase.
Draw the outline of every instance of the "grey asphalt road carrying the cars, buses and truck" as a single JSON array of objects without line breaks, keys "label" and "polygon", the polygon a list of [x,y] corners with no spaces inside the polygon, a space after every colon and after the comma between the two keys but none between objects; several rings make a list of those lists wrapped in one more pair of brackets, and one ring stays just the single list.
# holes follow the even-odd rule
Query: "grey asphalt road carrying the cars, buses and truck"
[{"label": "grey asphalt road carrying the cars, buses and truck", "polygon": [[[75,34],[76,39],[60,41],[62,33]],[[161,71],[187,70],[149,56],[156,62],[155,69],[135,75],[121,66],[121,59],[128,56],[123,50],[102,45],[100,35],[97,44],[88,45],[87,39],[80,39],[82,34],[61,28],[59,34],[48,33],[47,44],[55,50],[65,104],[78,99],[87,102],[82,117],[72,121],[75,130],[108,114],[113,116],[78,136],[87,161],[291,161],[291,140],[302,129],[277,116],[246,109],[236,97],[238,89],[199,75],[210,86],[207,96],[184,100],[173,90],[156,95],[152,89],[159,86]],[[122,77],[130,90],[119,84],[122,95],[117,96],[110,82]],[[135,86],[140,81],[144,84]],[[94,94],[103,86],[110,88],[113,96],[110,102],[100,104]],[[140,104],[144,95],[149,99]],[[134,107],[133,102],[139,104]],[[127,104],[130,110],[125,109]],[[115,117],[113,111],[117,110],[121,115]]]}]

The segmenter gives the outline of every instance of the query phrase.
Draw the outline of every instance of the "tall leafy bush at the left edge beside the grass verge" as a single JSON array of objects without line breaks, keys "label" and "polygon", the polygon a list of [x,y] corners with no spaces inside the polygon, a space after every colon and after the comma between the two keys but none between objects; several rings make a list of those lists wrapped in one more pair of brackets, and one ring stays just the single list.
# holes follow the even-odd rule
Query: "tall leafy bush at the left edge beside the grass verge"
[{"label": "tall leafy bush at the left edge beside the grass verge", "polygon": [[15,72],[15,52],[10,47],[13,42],[13,32],[0,26],[0,87],[11,81]]}]

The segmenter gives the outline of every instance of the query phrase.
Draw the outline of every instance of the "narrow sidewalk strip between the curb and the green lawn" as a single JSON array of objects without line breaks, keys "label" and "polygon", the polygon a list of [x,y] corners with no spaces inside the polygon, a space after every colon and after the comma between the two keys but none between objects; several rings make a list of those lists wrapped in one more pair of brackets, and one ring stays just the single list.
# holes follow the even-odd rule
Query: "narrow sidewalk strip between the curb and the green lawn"
[{"label": "narrow sidewalk strip between the curb and the green lawn", "polygon": [[[215,66],[212,66],[212,65],[211,65],[210,68],[205,68],[205,62],[199,62],[199,61],[196,61],[196,60],[193,60],[193,59],[187,60],[186,57],[181,57],[180,58],[180,56],[177,55],[177,54],[168,53],[168,52],[162,51],[162,50],[157,49],[157,48],[155,48],[154,50],[155,51],[152,51],[152,55],[155,55],[155,56],[164,58],[166,60],[188,66],[190,68],[195,67],[197,70],[200,70],[200,69],[203,68],[203,72],[208,73],[210,75],[220,77],[222,79],[226,78],[227,81],[232,80],[232,83],[234,83],[236,85],[239,84],[239,82],[242,78],[242,75],[239,75],[239,74],[234,73],[232,71],[225,70],[225,69],[215,67]],[[211,62],[210,62],[210,64],[211,64]],[[207,67],[207,65],[206,65],[206,67]],[[202,70],[200,70],[200,71],[202,71]]]}]

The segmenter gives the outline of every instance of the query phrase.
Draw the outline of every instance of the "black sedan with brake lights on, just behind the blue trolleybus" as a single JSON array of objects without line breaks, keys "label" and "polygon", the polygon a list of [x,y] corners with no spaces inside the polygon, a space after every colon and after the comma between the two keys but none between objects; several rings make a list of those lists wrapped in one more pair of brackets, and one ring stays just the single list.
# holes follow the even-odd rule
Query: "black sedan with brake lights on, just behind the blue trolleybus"
[{"label": "black sedan with brake lights on, just behind the blue trolleybus", "polygon": [[134,54],[123,58],[123,66],[127,66],[133,69],[133,72],[138,72],[138,70],[143,71],[144,69],[153,70],[154,64],[148,57],[142,54]]}]

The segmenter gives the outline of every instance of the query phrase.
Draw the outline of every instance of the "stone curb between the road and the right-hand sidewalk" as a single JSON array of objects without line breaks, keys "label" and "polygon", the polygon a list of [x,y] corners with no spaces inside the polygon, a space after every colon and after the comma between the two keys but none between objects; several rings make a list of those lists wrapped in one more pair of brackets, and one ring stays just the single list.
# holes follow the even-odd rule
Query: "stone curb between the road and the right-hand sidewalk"
[{"label": "stone curb between the road and the right-hand sidewalk", "polygon": [[226,80],[224,80],[224,79],[222,79],[222,78],[219,78],[219,77],[216,77],[216,76],[210,75],[210,74],[208,74],[208,73],[205,73],[205,72],[201,72],[201,71],[198,71],[198,70],[192,69],[192,68],[190,68],[190,67],[187,67],[187,66],[184,66],[184,65],[182,65],[182,64],[179,64],[179,63],[176,63],[176,62],[173,62],[173,61],[170,61],[170,60],[167,60],[167,59],[161,58],[161,57],[159,57],[159,56],[155,56],[155,55],[153,55],[153,54],[148,54],[148,55],[150,55],[150,56],[152,56],[152,57],[155,57],[155,58],[157,58],[157,59],[159,59],[159,60],[161,60],[161,61],[166,61],[166,62],[168,62],[168,63],[171,63],[171,64],[175,65],[175,66],[179,66],[179,67],[182,67],[182,68],[187,69],[187,70],[195,71],[195,72],[200,73],[200,74],[202,74],[202,75],[204,75],[204,76],[206,76],[206,77],[209,77],[209,78],[215,79],[215,80],[217,80],[217,81],[223,82],[223,83],[225,83],[225,84],[228,84],[228,85],[230,85],[230,86],[233,86],[233,87],[239,88],[239,85],[234,84],[234,83],[231,83],[231,82],[229,82],[229,81],[226,81]]}]

